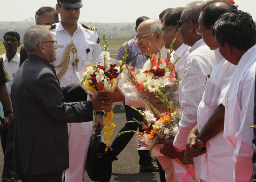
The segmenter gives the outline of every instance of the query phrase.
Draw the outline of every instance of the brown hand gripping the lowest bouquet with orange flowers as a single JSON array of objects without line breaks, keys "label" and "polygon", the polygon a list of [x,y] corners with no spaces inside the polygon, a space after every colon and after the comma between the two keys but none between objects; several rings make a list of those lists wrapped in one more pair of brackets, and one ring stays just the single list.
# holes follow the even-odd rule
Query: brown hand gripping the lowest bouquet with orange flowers
[{"label": "brown hand gripping the lowest bouquet with orange flowers", "polygon": [[173,146],[173,139],[169,140],[158,140],[157,144],[164,144],[165,147],[160,152],[171,159],[175,159],[179,157],[182,153],[179,151],[176,151],[175,147]]}]

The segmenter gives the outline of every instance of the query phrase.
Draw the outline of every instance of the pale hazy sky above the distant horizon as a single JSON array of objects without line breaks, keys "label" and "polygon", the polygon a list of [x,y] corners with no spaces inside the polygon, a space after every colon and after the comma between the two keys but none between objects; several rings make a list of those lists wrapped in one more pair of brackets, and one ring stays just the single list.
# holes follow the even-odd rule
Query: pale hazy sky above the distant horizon
[{"label": "pale hazy sky above the distant horizon", "polygon": [[[82,0],[79,22],[135,22],[140,16],[158,19],[168,7],[186,6],[194,0]],[[234,0],[238,9],[249,12],[256,20],[256,0]],[[41,6],[55,7],[57,0],[1,0],[0,21],[24,21],[34,18]]]}]

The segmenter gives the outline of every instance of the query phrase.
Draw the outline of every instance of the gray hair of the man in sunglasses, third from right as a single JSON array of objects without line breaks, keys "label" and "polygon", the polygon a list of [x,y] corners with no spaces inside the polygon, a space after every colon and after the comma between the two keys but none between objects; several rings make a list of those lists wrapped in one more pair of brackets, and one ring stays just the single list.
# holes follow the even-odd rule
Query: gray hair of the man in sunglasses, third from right
[{"label": "gray hair of the man in sunglasses, third from right", "polygon": [[182,18],[184,20],[191,20],[193,21],[195,24],[198,24],[198,18],[201,12],[202,7],[205,5],[206,3],[204,1],[194,1],[189,3],[184,11],[182,12]]}]

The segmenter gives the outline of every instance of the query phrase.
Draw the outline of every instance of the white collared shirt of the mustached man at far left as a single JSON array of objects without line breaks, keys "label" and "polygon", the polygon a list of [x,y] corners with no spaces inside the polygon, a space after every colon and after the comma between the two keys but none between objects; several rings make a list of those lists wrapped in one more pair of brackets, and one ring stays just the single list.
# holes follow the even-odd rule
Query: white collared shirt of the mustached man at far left
[{"label": "white collared shirt of the mustached man at far left", "polygon": [[8,75],[11,78],[11,81],[6,83],[8,92],[11,95],[11,87],[13,84],[13,78],[14,78],[15,73],[18,70],[19,64],[20,64],[20,54],[18,52],[16,52],[15,56],[10,61],[10,63],[8,62],[6,54],[1,55],[0,57],[2,57],[4,59],[4,67],[5,67]]}]

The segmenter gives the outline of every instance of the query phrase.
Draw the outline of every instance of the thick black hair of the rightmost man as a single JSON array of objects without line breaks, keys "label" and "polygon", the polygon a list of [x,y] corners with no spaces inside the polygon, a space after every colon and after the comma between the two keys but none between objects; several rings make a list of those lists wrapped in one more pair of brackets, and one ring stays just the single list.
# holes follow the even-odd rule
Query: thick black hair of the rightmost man
[{"label": "thick black hair of the rightmost man", "polygon": [[256,44],[256,25],[249,13],[233,10],[222,14],[214,24],[216,40],[238,50],[248,50]]}]

